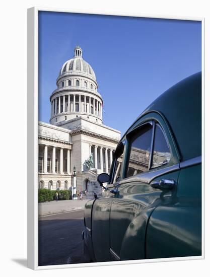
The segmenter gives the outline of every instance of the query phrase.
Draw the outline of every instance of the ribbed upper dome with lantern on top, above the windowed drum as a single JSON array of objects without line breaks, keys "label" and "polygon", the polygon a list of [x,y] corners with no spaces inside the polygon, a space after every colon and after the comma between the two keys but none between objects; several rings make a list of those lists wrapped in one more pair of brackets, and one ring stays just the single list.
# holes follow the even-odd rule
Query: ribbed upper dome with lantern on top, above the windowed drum
[{"label": "ribbed upper dome with lantern on top, above the windowed drum", "polygon": [[75,47],[75,56],[64,62],[59,72],[59,76],[63,74],[81,73],[84,76],[88,76],[96,80],[96,75],[93,71],[93,68],[87,61],[83,59],[82,52],[83,50],[80,48],[80,46]]}]

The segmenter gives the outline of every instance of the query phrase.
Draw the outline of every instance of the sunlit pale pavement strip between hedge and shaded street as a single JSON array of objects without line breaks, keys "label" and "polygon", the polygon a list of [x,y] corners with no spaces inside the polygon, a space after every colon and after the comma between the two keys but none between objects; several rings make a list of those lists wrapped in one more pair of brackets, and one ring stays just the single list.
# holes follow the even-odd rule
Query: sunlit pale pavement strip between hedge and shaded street
[{"label": "sunlit pale pavement strip between hedge and shaded street", "polygon": [[89,199],[83,200],[59,200],[39,203],[39,216],[47,216],[84,209],[85,203]]}]

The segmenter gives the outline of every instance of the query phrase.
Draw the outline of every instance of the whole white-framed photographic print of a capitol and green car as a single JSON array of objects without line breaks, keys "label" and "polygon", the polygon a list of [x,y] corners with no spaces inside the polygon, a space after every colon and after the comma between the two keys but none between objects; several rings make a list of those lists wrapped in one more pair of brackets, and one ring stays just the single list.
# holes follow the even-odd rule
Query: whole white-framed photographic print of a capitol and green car
[{"label": "whole white-framed photographic print of a capitol and green car", "polygon": [[28,10],[28,266],[204,257],[204,19]]}]

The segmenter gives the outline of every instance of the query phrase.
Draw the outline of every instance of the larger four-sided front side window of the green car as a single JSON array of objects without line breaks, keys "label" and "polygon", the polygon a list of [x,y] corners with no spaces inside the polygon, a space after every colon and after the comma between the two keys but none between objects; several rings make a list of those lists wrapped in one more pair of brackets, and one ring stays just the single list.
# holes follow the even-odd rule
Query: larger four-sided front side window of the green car
[{"label": "larger four-sided front side window of the green car", "polygon": [[151,140],[152,126],[150,124],[131,134],[126,177],[134,176],[149,169]]}]

